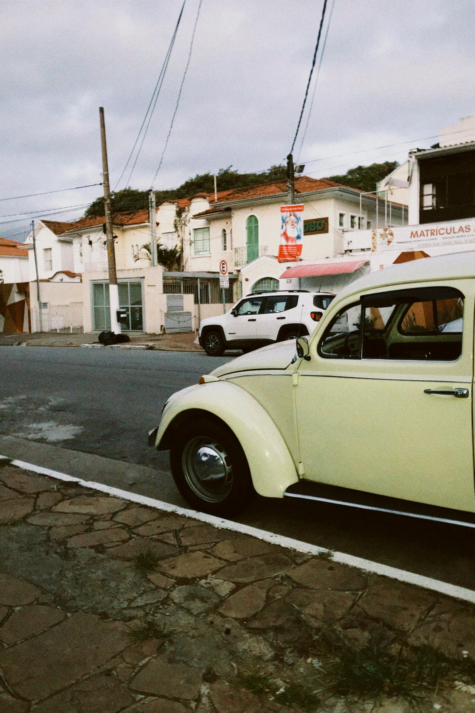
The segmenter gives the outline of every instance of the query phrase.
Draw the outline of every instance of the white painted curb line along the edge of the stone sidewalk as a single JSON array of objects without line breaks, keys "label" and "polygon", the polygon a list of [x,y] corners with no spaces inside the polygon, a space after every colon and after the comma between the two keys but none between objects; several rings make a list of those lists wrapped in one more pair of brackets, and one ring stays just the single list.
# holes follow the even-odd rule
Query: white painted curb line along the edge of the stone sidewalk
[{"label": "white painted curb line along the edge of the stone sidewalk", "polygon": [[[0,458],[3,459],[5,458],[5,456],[0,456]],[[346,555],[342,552],[332,553],[332,550],[327,550],[324,547],[310,545],[309,543],[301,542],[300,540],[294,540],[292,538],[285,537],[284,535],[276,535],[275,533],[267,532],[267,530],[252,528],[250,527],[250,525],[242,525],[242,523],[235,523],[233,522],[233,520],[217,518],[215,517],[215,515],[207,515],[206,513],[198,513],[195,510],[180,508],[179,506],[171,505],[170,503],[164,503],[163,501],[155,500],[155,498],[147,498],[146,496],[138,495],[137,493],[129,493],[128,491],[123,491],[119,488],[111,488],[111,486],[103,485],[103,483],[83,481],[82,478],[74,478],[73,476],[66,475],[66,473],[58,473],[58,471],[51,471],[50,468],[35,466],[33,463],[25,463],[25,461],[16,460],[10,462],[12,466],[24,468],[24,470],[26,471],[40,473],[43,476],[50,476],[51,478],[56,478],[60,481],[78,483],[84,488],[91,488],[91,490],[100,491],[101,493],[107,493],[108,495],[114,496],[116,498],[122,498],[123,500],[130,501],[131,503],[140,503],[141,505],[148,506],[149,508],[156,508],[157,510],[162,510],[167,513],[183,515],[185,518],[194,518],[195,520],[200,520],[203,523],[215,525],[215,527],[217,528],[233,530],[234,532],[240,533],[241,535],[250,535],[251,537],[258,538],[259,540],[264,540],[265,542],[271,543],[272,545],[280,545],[280,547],[285,547],[290,550],[296,550],[297,552],[305,553],[308,555],[331,553],[331,559],[333,562],[338,562],[342,565],[349,565],[350,567],[358,568],[359,570],[363,570],[364,572],[370,572],[372,574],[382,575],[383,577],[389,577],[390,579],[398,580],[399,582],[416,585],[417,587],[429,589],[433,592],[438,592],[449,597],[454,597],[455,599],[464,600],[465,602],[475,603],[475,592],[471,589],[458,587],[457,585],[449,584],[447,582],[441,582],[441,580],[435,580],[431,577],[424,577],[423,575],[418,575],[414,572],[399,570],[396,567],[390,567],[389,565],[382,565],[378,562],[372,562],[372,560],[364,560],[361,557]]]}]

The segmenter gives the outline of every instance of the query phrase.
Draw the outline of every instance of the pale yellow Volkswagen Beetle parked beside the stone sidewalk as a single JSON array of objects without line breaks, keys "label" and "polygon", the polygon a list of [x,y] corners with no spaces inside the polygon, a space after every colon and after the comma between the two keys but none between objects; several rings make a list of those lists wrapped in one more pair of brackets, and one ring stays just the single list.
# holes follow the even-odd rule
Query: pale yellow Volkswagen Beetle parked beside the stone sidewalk
[{"label": "pale yellow Volkswagen Beetle parked beside the stone sidewalk", "polygon": [[174,394],[149,442],[215,515],[257,492],[474,523],[474,301],[475,252],[373,272]]}]

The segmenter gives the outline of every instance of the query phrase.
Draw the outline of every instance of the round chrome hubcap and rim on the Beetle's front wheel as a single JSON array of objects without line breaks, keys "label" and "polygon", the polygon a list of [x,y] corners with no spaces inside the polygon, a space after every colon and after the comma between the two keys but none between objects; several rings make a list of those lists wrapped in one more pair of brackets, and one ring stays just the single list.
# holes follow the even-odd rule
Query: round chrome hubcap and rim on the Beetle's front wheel
[{"label": "round chrome hubcap and rim on the Beetle's front wheel", "polygon": [[220,503],[233,486],[233,468],[223,446],[198,436],[183,449],[183,474],[190,488],[207,503]]}]

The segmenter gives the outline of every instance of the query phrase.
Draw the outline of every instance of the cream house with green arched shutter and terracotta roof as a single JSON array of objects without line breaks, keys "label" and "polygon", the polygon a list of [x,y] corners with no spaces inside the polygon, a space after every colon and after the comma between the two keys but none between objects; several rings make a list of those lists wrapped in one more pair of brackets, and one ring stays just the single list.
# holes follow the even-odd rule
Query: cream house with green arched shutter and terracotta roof
[{"label": "cream house with green arched shutter and terracotta roof", "polygon": [[[217,272],[220,262],[225,260],[230,272],[240,276],[237,297],[257,289],[278,289],[287,269],[293,275],[285,277],[287,289],[289,284],[292,289],[302,288],[300,277],[305,277],[306,287],[302,289],[320,286],[328,289],[327,284],[337,285],[342,280],[347,284],[360,274],[357,271],[361,266],[354,267],[350,274],[347,266],[342,265],[355,262],[354,252],[371,250],[370,245],[358,245],[359,231],[382,226],[384,220],[390,225],[407,222],[405,205],[391,199],[386,205],[385,199],[377,195],[367,195],[327,179],[302,176],[295,180],[295,203],[304,205],[302,254],[296,265],[279,262],[277,257],[280,206],[287,203],[284,181],[223,191],[218,193],[217,200],[213,198],[205,195],[193,198],[186,220],[182,217],[185,265],[190,265],[189,269],[197,274],[204,270]],[[207,207],[197,210],[200,205]],[[369,255],[364,257],[366,265]],[[305,275],[299,275],[304,267]]]}]

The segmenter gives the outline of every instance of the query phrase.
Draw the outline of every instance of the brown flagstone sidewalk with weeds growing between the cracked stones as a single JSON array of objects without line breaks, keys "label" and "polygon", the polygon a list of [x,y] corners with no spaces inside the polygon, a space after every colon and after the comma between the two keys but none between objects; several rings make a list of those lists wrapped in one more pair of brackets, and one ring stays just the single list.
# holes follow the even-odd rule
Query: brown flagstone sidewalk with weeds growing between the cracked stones
[{"label": "brown flagstone sidewalk with weeds growing between the cracked stones", "polygon": [[475,710],[474,606],[9,463],[0,622],[0,713]]}]

